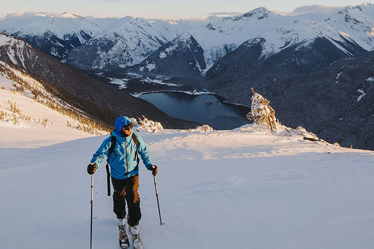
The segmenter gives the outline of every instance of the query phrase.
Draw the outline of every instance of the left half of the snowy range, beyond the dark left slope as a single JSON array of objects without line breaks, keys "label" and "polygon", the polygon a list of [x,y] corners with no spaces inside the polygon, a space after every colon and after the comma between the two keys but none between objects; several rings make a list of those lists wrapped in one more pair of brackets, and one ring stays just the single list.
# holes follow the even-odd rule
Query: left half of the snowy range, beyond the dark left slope
[{"label": "left half of the snowy range, beyond the dark left slope", "polygon": [[[85,69],[86,65],[89,69],[108,69],[140,63],[162,44],[189,29],[192,27],[184,20],[148,21],[130,16],[97,19],[69,12],[0,20],[0,32],[23,38],[59,59],[65,59],[70,50],[95,37],[68,57],[71,64]],[[82,60],[81,53],[89,56]]]}]

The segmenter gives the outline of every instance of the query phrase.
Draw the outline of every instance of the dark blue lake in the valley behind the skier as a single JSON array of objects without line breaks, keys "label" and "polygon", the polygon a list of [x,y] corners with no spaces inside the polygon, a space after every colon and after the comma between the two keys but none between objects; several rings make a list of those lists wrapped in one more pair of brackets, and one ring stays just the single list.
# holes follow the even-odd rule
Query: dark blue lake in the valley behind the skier
[{"label": "dark blue lake in the valley behind the skier", "polygon": [[244,118],[250,108],[225,103],[224,98],[218,95],[159,92],[142,94],[139,98],[152,103],[170,117],[208,124],[216,130],[252,123]]}]

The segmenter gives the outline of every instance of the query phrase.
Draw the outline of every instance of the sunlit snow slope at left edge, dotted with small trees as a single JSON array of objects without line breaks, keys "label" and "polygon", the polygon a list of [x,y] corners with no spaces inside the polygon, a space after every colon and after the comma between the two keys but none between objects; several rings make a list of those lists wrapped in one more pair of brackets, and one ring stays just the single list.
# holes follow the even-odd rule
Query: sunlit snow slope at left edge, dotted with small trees
[{"label": "sunlit snow slope at left edge, dotted with small trees", "polygon": [[[6,64],[1,62],[0,65]],[[39,82],[22,76],[16,70],[13,71],[31,86],[38,88],[41,93],[46,92]],[[30,91],[26,90],[24,93],[10,91],[15,87],[12,81],[2,73],[0,73],[0,88],[0,117],[2,113],[7,114],[3,120],[0,119],[0,147],[35,148],[93,136],[93,134],[77,129],[76,127],[82,124],[74,119],[63,116],[34,101],[34,95]],[[22,119],[19,113],[13,113],[10,104],[15,105],[22,115],[30,119]],[[16,125],[13,123],[13,117],[16,118]],[[67,124],[70,124],[71,127],[68,127]],[[107,132],[100,131],[100,133],[106,134]]]}]

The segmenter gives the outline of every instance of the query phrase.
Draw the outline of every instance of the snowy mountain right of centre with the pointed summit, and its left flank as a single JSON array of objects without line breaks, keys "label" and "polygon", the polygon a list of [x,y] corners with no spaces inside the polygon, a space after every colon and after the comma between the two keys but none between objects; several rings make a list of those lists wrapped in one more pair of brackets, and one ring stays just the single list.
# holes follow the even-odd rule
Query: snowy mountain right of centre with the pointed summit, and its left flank
[{"label": "snowy mountain right of centre with the pointed summit, and its left flank", "polygon": [[[292,18],[292,17],[291,17]],[[184,64],[173,64],[167,63],[171,71],[179,71],[178,76],[186,77],[189,73],[184,71],[196,71],[195,76],[209,69],[214,62],[220,59],[227,53],[234,51],[240,44],[248,40],[249,37],[256,37],[257,35],[274,29],[279,23],[285,23],[290,21],[290,17],[276,15],[264,7],[256,8],[241,16],[225,17],[219,20],[210,22],[204,26],[200,26],[193,30],[182,34],[181,37],[177,37],[174,41],[166,46],[162,47],[161,50],[155,54],[161,54],[159,58],[153,55],[142,62],[142,65],[154,64],[155,66],[146,71],[153,73],[162,73],[170,58],[183,56],[185,58],[190,57],[190,53],[198,53],[198,57],[203,57],[204,61],[185,60]],[[190,41],[194,40],[196,45],[201,49],[183,49],[190,47]],[[181,50],[184,50],[186,55],[181,55]],[[183,53],[183,51],[182,51]],[[177,55],[176,55],[177,54]],[[141,70],[140,70],[141,71]],[[164,71],[166,71],[164,69]],[[176,76],[176,75],[173,75]]]}]

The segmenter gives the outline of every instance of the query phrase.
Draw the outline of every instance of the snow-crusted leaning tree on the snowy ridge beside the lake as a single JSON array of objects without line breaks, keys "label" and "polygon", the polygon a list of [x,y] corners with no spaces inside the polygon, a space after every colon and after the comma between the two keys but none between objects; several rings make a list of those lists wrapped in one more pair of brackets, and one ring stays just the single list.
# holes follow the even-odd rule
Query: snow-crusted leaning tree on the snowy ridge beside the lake
[{"label": "snow-crusted leaning tree on the snowy ridge beside the lake", "polygon": [[253,96],[251,97],[252,105],[251,112],[247,114],[247,119],[253,121],[256,124],[270,124],[270,129],[276,129],[275,124],[275,112],[269,106],[270,101],[253,91],[251,88]]}]

